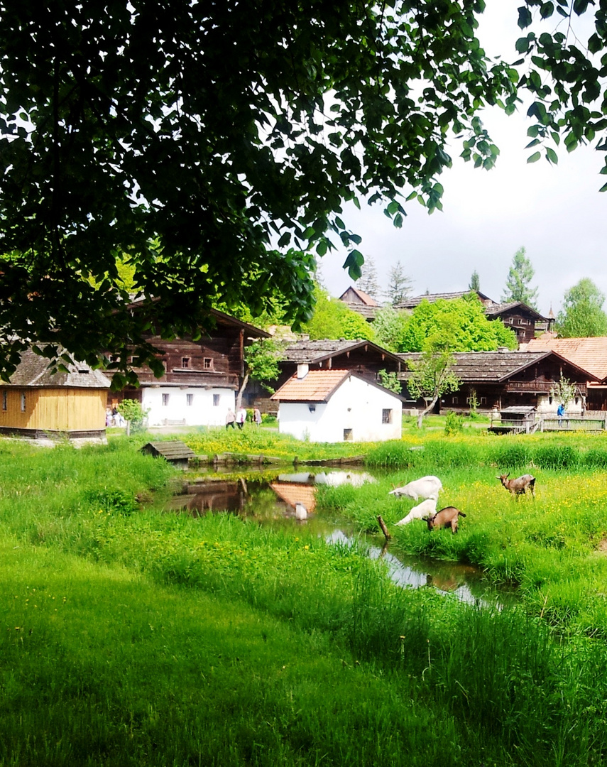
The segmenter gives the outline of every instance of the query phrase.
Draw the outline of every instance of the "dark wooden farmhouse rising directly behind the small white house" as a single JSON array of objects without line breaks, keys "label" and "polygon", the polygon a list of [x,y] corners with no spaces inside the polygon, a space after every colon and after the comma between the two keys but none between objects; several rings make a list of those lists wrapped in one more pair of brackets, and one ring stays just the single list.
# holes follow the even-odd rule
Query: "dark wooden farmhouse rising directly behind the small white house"
[{"label": "dark wooden farmhouse rising directly behind the small white house", "polygon": [[289,344],[280,362],[281,375],[277,386],[282,386],[297,373],[297,366],[307,364],[309,370],[351,370],[359,377],[380,384],[379,370],[399,373],[402,361],[399,354],[383,349],[372,341],[308,341]]}]

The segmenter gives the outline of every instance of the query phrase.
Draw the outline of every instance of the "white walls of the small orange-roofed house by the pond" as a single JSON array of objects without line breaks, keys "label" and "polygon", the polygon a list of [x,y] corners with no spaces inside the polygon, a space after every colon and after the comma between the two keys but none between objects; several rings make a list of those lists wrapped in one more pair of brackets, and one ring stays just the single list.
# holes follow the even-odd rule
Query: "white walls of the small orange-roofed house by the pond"
[{"label": "white walls of the small orange-roofed house by the pond", "polygon": [[[310,412],[310,406],[314,407]],[[382,423],[382,410],[392,410],[392,423]],[[346,379],[328,403],[281,402],[279,430],[311,442],[343,442],[352,430],[353,442],[400,439],[402,400],[359,378]]]}]

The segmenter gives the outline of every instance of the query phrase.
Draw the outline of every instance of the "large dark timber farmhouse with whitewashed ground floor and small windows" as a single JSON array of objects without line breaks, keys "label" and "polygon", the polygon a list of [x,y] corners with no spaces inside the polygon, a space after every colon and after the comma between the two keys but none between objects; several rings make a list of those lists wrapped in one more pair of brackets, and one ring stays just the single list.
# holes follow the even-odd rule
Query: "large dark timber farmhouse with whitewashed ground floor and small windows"
[{"label": "large dark timber farmhouse with whitewashed ground floor and small windows", "polygon": [[148,341],[160,350],[164,375],[156,378],[149,367],[133,365],[139,387],[112,393],[112,407],[123,399],[139,401],[149,411],[149,426],[224,425],[228,409],[235,409],[244,375],[244,347],[269,334],[216,309],[208,316],[208,327],[196,341],[166,341],[150,334]]}]

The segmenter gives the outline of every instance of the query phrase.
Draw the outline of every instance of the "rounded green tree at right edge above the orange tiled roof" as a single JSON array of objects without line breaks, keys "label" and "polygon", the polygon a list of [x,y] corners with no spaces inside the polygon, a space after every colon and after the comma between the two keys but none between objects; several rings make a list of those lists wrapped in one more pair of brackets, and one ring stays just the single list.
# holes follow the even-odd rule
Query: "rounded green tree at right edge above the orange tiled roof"
[{"label": "rounded green tree at right edge above the orange tiled roof", "polygon": [[563,308],[556,317],[556,331],[563,338],[607,335],[605,295],[588,277],[565,291]]}]

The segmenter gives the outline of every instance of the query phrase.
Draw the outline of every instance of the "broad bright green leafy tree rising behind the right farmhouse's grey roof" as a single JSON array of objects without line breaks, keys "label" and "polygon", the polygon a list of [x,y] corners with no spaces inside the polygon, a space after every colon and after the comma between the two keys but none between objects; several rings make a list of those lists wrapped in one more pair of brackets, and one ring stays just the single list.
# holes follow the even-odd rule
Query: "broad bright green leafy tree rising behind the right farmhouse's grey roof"
[{"label": "broad bright green leafy tree rising behind the right farmhouse's grey roof", "polygon": [[423,351],[428,337],[451,335],[451,351],[516,349],[516,334],[501,320],[488,320],[475,293],[453,300],[422,301],[402,329],[399,351]]}]

